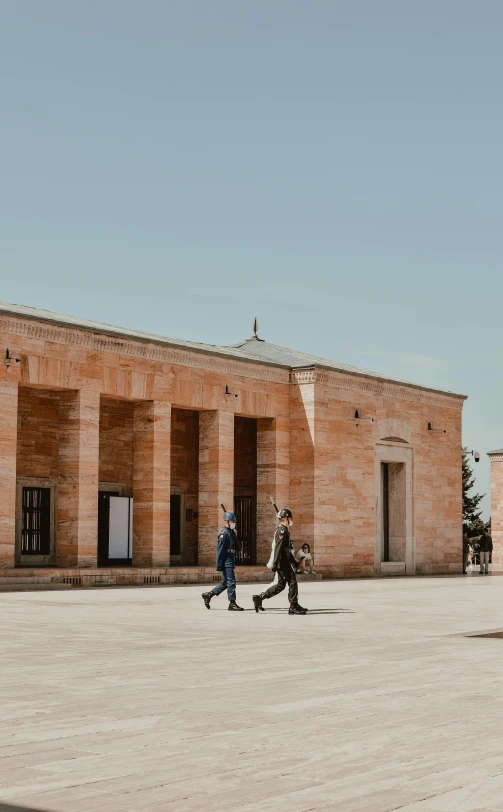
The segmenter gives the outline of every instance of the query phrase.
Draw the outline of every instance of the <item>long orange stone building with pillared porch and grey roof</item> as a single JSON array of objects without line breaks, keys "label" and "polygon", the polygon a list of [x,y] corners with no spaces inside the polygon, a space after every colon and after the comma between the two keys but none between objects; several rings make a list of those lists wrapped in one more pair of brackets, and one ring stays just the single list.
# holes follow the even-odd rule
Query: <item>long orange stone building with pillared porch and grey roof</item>
[{"label": "long orange stone building with pillared porch and grey roof", "polygon": [[2,304],[0,336],[2,577],[207,578],[220,501],[259,578],[271,496],[324,576],[460,571],[463,396],[257,335],[216,347]]}]

